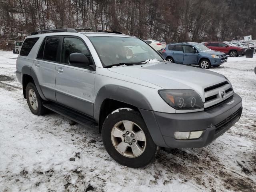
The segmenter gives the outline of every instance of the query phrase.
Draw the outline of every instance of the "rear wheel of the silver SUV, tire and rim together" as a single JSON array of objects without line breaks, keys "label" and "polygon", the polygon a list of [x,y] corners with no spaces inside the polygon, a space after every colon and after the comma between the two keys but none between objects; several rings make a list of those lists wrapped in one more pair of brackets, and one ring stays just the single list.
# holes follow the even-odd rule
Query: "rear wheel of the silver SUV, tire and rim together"
[{"label": "rear wheel of the silver SUV, tire and rim together", "polygon": [[40,97],[36,86],[31,82],[26,86],[26,98],[28,107],[34,115],[43,115],[46,113],[46,108],[42,105],[43,100]]}]

